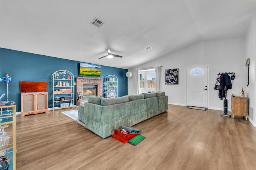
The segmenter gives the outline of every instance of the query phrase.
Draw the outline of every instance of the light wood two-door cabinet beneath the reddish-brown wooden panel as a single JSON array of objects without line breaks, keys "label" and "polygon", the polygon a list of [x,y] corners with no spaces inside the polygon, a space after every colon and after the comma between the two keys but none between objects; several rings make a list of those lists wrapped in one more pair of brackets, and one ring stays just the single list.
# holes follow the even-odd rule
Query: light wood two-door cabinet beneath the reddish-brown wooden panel
[{"label": "light wood two-door cabinet beneath the reddish-brown wooden panel", "polygon": [[48,92],[21,93],[20,116],[48,113]]}]

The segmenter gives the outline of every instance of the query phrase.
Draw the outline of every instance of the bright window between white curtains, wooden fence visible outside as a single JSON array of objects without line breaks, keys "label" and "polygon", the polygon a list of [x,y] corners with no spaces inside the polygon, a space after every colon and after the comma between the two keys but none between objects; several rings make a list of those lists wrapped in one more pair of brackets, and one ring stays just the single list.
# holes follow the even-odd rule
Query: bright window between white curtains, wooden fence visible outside
[{"label": "bright window between white curtains, wooden fence visible outside", "polygon": [[156,73],[155,69],[150,70],[139,70],[140,74],[140,93],[147,93],[148,91],[154,91],[155,90],[155,79],[156,79]]}]

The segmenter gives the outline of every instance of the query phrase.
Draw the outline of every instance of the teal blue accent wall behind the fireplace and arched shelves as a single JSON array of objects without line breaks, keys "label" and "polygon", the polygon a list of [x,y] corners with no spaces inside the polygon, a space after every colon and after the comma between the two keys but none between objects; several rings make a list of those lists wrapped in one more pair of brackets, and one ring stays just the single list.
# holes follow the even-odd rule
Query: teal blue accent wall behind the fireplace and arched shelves
[{"label": "teal blue accent wall behind the fireplace and arched shelves", "polygon": [[[79,61],[0,48],[1,77],[6,75],[6,71],[12,77],[12,81],[8,84],[8,99],[15,102],[17,111],[20,111],[20,81],[47,81],[48,108],[51,108],[52,73],[57,70],[68,70],[74,74],[74,81],[76,82],[76,77],[79,76],[79,63]],[[128,79],[125,76],[127,71],[127,69],[123,68],[102,65],[100,77],[104,78],[109,74],[116,75],[118,78],[118,97],[121,97],[128,94]],[[3,93],[6,93],[6,83],[1,81],[0,95]],[[5,96],[2,101],[6,100]]]}]

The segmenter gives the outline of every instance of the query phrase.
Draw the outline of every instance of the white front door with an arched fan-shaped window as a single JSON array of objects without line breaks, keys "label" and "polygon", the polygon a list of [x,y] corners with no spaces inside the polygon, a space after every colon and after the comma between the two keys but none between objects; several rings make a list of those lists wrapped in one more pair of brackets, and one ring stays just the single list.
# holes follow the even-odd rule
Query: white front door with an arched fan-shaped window
[{"label": "white front door with an arched fan-shaped window", "polygon": [[208,108],[208,66],[186,68],[186,105]]}]

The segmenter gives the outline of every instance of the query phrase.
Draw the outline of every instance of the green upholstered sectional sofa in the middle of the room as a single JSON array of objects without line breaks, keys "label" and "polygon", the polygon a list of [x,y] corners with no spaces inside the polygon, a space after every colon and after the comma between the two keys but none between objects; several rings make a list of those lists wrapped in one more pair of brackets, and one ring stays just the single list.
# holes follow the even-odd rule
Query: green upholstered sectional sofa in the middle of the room
[{"label": "green upholstered sectional sofa in the middle of the room", "polygon": [[89,96],[88,102],[76,109],[78,119],[84,122],[86,129],[106,138],[114,129],[135,125],[167,111],[168,96],[165,96],[165,92],[120,98]]}]

